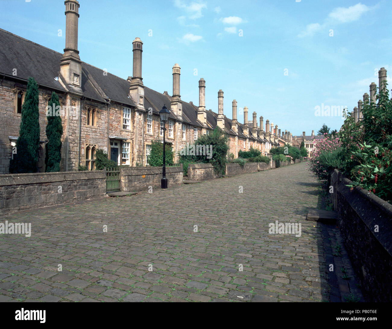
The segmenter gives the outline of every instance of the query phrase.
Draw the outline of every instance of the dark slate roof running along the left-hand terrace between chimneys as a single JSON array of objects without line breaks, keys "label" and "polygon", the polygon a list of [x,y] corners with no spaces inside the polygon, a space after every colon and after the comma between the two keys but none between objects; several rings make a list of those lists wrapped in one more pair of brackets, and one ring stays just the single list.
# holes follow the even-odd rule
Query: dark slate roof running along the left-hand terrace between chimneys
[{"label": "dark slate roof running along the left-hand terrace between chimneys", "polygon": [[[59,77],[60,62],[62,55],[52,49],[24,39],[11,32],[0,29],[0,76],[27,81],[29,77],[34,77],[38,85],[47,87],[59,92],[67,92],[60,81],[54,79]],[[13,76],[13,69],[17,69],[17,75]],[[128,106],[136,106],[129,97],[129,81],[105,72],[100,68],[82,61],[82,91],[83,96],[100,102],[112,100]],[[61,78],[60,78],[61,79]],[[169,118],[176,120],[176,115],[170,108],[171,97],[165,93],[159,93],[144,86],[144,108],[152,108],[154,114],[158,114],[163,104],[171,112]],[[196,127],[203,127],[197,119],[198,107],[192,102],[182,101],[183,122]],[[207,127],[214,129],[218,113],[207,112]],[[231,119],[224,117],[225,131],[230,135],[235,135],[231,129]],[[243,124],[238,122],[238,136],[250,138],[261,142],[267,142],[260,138],[257,130],[256,136],[249,127],[249,137],[243,134]],[[275,143],[278,145],[277,143]]]}]

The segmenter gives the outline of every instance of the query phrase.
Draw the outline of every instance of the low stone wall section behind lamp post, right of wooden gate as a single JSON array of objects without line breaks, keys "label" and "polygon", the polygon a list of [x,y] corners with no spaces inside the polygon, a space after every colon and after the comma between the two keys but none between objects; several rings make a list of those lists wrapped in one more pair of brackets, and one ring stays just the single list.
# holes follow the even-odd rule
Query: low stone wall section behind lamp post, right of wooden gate
[{"label": "low stone wall section behind lamp post, right of wooden gate", "polygon": [[[137,192],[149,186],[160,187],[161,178],[162,167],[121,167],[121,191]],[[166,178],[168,187],[181,184],[182,164],[180,167],[166,167]]]}]

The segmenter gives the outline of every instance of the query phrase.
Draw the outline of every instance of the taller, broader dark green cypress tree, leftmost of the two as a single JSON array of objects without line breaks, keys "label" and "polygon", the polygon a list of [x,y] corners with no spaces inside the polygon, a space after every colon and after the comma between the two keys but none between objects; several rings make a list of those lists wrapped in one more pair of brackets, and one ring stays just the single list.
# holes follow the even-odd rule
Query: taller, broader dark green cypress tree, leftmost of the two
[{"label": "taller, broader dark green cypress tree, leftmost of the two", "polygon": [[11,174],[36,173],[40,147],[40,113],[38,111],[38,86],[29,77],[27,91],[22,105],[22,121],[16,141],[16,154],[9,164]]}]

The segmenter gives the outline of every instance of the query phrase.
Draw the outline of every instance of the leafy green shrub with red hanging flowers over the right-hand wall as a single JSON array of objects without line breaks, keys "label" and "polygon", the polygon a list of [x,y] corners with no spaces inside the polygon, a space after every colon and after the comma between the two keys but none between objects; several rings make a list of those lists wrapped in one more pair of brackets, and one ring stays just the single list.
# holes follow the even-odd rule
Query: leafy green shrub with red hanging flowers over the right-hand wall
[{"label": "leafy green shrub with red hanging flowers over the right-hand wall", "polygon": [[345,173],[353,184],[392,203],[392,101],[387,83],[376,96],[378,104],[365,101],[363,119],[348,117],[339,133],[347,159]]}]

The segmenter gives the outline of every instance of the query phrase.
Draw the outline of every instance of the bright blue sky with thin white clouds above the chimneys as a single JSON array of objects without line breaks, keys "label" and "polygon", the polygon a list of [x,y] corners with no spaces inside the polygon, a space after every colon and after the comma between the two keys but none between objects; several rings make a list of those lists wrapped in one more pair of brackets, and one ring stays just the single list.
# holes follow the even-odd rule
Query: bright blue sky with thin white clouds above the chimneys
[{"label": "bright blue sky with thin white clouds above the chimneys", "polygon": [[[387,0],[79,3],[82,61],[127,79],[132,41],[140,37],[145,86],[172,94],[172,66],[178,63],[183,101],[198,105],[203,77],[207,109],[218,112],[222,89],[227,117],[236,99],[240,122],[240,108],[247,106],[250,120],[256,111],[258,120],[263,115],[264,124],[269,119],[293,136],[317,132],[323,123],[339,129],[340,117],[317,117],[315,107],[352,111],[371,82],[378,86],[375,72],[385,67],[389,80],[392,70]],[[63,52],[64,9],[63,0],[1,0],[0,27]]]}]

